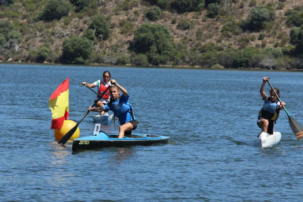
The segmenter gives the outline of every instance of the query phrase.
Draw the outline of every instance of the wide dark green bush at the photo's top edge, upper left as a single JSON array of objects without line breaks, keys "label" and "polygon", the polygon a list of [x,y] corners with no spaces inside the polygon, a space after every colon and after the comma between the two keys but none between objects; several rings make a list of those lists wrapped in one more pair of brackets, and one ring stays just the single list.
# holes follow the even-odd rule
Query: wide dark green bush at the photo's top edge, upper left
[{"label": "wide dark green bush at the photo's top edge, upper left", "polygon": [[70,4],[64,0],[49,0],[38,14],[37,19],[44,21],[60,20],[63,16],[68,15],[70,9]]}]

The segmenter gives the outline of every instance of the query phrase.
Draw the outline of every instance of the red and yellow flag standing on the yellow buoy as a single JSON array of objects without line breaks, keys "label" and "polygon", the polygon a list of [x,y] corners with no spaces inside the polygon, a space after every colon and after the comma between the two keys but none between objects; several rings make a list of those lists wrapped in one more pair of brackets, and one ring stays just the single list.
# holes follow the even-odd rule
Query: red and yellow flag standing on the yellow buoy
[{"label": "red and yellow flag standing on the yellow buoy", "polygon": [[62,128],[64,120],[68,119],[68,78],[58,86],[48,100],[52,111],[51,129]]}]

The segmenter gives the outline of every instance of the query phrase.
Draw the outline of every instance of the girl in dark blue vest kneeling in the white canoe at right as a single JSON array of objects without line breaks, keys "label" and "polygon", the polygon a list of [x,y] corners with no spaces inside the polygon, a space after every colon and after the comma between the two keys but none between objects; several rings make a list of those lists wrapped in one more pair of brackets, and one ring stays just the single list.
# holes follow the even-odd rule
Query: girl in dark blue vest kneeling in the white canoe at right
[{"label": "girl in dark blue vest kneeling in the white canoe at right", "polygon": [[260,94],[264,100],[262,109],[260,110],[257,124],[262,129],[269,134],[274,134],[274,121],[276,120],[279,110],[283,109],[285,106],[284,102],[279,102],[275,92],[280,98],[280,91],[278,88],[274,88],[275,92],[271,89],[269,91],[270,96],[265,94],[264,87],[266,82],[269,80],[268,77],[263,78],[263,83],[260,88]]}]

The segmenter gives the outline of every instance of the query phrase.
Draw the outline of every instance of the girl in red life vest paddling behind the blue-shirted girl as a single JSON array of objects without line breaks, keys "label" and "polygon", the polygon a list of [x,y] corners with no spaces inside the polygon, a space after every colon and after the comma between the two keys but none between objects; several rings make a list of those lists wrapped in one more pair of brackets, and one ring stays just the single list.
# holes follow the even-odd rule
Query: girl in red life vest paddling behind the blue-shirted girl
[{"label": "girl in red life vest paddling behind the blue-shirted girl", "polygon": [[[89,88],[98,88],[98,94],[102,94],[103,91],[108,87],[108,85],[111,85],[111,73],[109,71],[103,72],[103,80],[97,80],[92,84],[89,84],[87,82],[82,82],[82,85],[87,85]],[[95,98],[95,102],[98,100],[99,95]],[[97,107],[103,107],[106,103],[109,101],[109,91],[105,92],[105,94],[102,96],[102,98],[96,103],[95,106]],[[102,115],[104,111],[100,112],[100,115]]]}]

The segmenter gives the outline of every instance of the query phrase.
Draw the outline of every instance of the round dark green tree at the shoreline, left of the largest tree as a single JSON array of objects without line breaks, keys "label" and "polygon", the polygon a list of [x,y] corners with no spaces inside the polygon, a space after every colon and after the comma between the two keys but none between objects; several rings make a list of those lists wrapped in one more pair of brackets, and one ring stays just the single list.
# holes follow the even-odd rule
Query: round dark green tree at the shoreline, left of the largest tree
[{"label": "round dark green tree at the shoreline, left of the largest tree", "polygon": [[63,42],[62,62],[84,64],[93,49],[92,41],[89,39],[73,36]]}]

